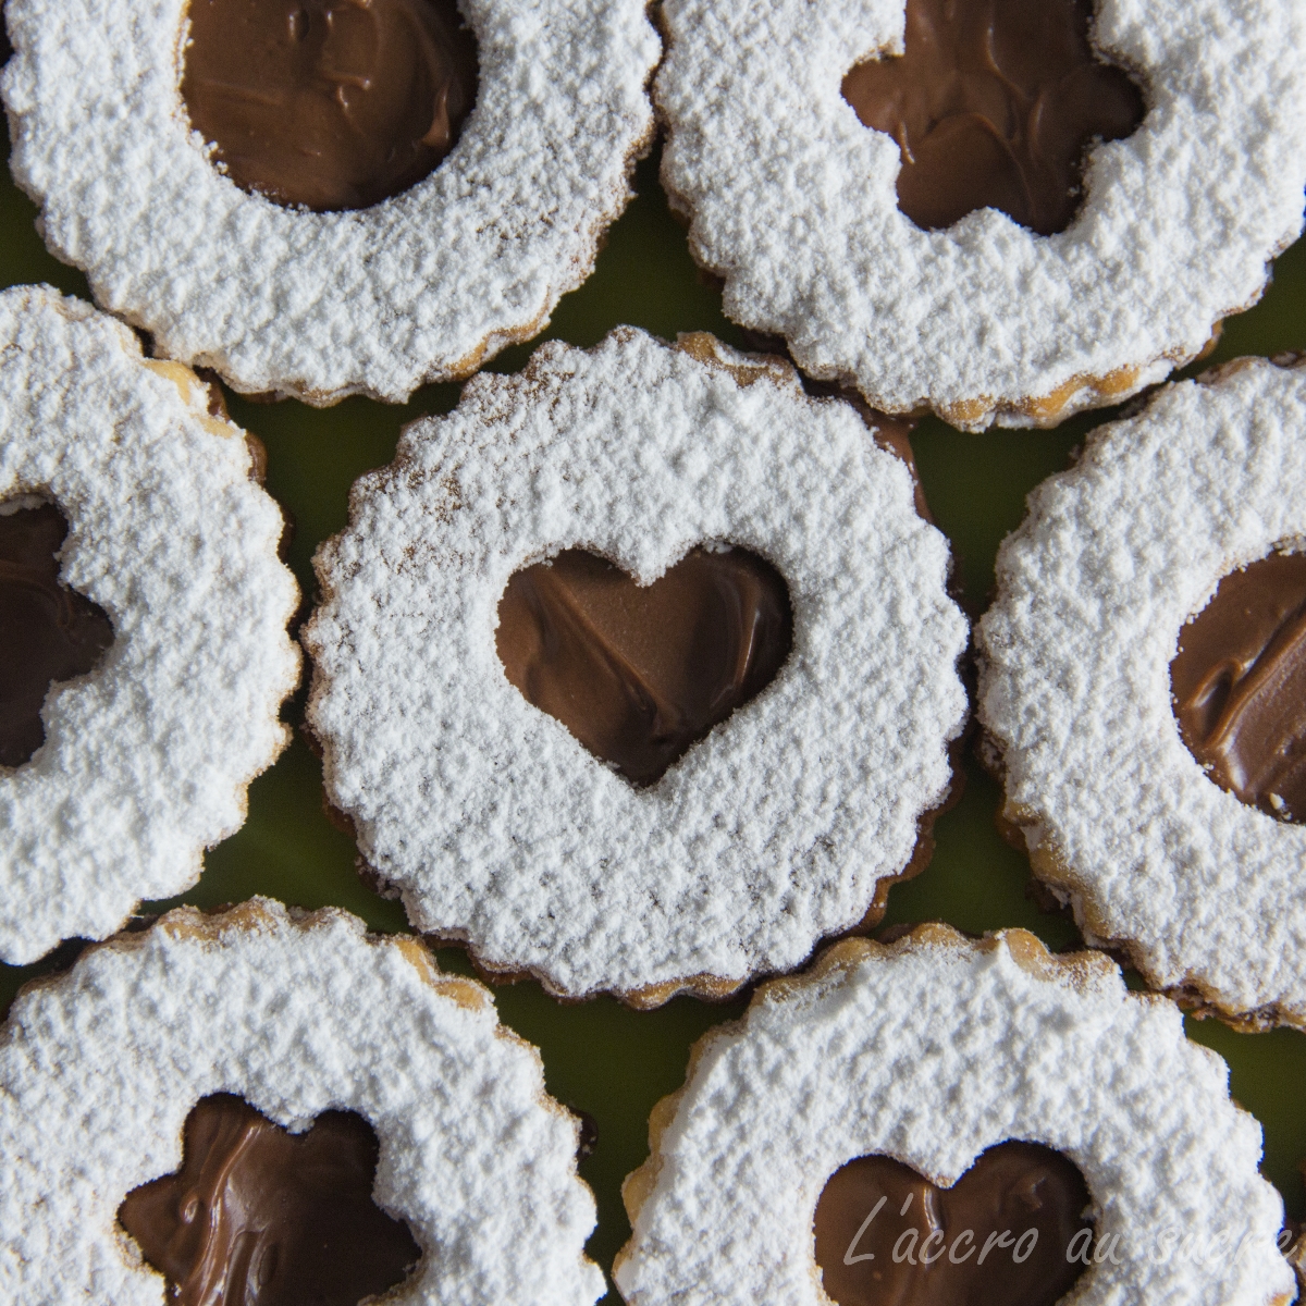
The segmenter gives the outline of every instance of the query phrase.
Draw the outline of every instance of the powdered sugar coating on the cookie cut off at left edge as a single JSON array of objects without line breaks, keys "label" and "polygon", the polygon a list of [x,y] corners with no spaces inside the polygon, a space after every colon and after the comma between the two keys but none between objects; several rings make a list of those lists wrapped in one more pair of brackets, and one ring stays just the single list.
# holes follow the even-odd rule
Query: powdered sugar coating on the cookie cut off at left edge
[{"label": "powdered sugar coating on the cookie cut off at left edge", "polygon": [[114,626],[95,670],[47,696],[33,759],[0,768],[8,963],[103,939],[141,899],[193,884],[289,742],[299,589],[277,559],[283,521],[206,393],[89,304],[0,294],[0,502],[59,505],[60,579]]}]

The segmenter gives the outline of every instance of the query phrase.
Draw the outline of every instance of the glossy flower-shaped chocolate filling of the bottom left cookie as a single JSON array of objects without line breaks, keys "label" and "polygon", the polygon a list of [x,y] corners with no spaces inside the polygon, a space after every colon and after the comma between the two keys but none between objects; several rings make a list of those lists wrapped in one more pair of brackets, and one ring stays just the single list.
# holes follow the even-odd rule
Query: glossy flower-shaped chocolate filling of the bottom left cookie
[{"label": "glossy flower-shaped chocolate filling of the bottom left cookie", "polygon": [[379,1144],[353,1111],[296,1136],[215,1093],[187,1117],[183,1144],[182,1169],[118,1209],[178,1306],[357,1306],[421,1256],[372,1202]]}]

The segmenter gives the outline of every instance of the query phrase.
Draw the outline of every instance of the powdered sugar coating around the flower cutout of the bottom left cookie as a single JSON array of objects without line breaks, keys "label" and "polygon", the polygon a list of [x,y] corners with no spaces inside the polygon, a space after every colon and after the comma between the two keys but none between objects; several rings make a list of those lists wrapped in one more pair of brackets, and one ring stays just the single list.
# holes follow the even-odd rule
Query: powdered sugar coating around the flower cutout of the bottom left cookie
[{"label": "powdered sugar coating around the flower cutout of the bottom left cookie", "polygon": [[387,1294],[590,1306],[594,1202],[577,1123],[490,994],[413,939],[368,939],[326,909],[256,899],[170,913],[14,1003],[0,1045],[0,1293],[12,1306],[159,1306],[116,1211],[182,1162],[182,1127],[235,1093],[294,1131],[326,1110],[376,1130],[374,1198],[422,1260]]}]

